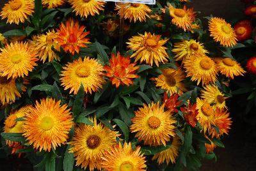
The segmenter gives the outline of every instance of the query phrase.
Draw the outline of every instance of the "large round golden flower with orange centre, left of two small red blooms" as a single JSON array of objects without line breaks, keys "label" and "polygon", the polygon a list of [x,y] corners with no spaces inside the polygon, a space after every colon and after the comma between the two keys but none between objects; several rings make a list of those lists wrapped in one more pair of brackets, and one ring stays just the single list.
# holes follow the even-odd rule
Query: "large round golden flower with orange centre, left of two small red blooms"
[{"label": "large round golden flower with orange centre, left of two small red blooms", "polygon": [[152,102],[135,112],[130,130],[136,132],[135,137],[144,141],[145,145],[166,145],[170,137],[175,135],[176,121],[171,117],[170,111],[164,112],[164,105]]}]

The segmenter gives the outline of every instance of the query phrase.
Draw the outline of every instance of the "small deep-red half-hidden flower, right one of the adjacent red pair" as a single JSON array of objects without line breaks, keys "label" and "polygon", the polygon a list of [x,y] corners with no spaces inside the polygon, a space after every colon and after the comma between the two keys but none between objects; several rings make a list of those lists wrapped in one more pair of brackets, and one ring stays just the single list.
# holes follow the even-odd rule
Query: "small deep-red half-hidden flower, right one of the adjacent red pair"
[{"label": "small deep-red half-hidden flower, right one of the adjacent red pair", "polygon": [[189,103],[188,107],[180,107],[180,110],[184,112],[184,119],[189,123],[192,127],[195,127],[197,123],[196,116],[198,115],[198,110],[196,109],[196,103],[191,105]]}]

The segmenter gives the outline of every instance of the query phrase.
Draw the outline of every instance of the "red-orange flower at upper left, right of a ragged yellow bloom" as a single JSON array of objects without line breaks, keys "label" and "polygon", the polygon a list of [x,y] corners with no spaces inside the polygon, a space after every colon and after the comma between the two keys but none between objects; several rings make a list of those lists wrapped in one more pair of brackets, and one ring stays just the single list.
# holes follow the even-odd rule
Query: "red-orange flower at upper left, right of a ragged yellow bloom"
[{"label": "red-orange flower at upper left, right of a ragged yellow bloom", "polygon": [[57,41],[65,52],[70,52],[72,55],[77,54],[81,47],[87,47],[85,44],[90,43],[89,38],[85,38],[90,32],[84,32],[85,27],[79,26],[77,21],[67,20],[66,25],[61,23],[58,31]]}]

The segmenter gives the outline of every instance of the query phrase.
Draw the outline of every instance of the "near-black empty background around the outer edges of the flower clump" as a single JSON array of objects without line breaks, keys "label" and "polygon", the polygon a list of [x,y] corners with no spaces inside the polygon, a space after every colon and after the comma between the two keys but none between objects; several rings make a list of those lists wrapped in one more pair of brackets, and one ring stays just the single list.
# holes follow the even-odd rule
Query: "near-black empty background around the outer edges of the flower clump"
[{"label": "near-black empty background around the outer edges of the flower clump", "polygon": [[[6,0],[1,0],[0,8]],[[242,11],[245,4],[239,0],[195,0],[188,4],[193,6],[195,11],[201,11],[198,18],[210,16],[223,17],[227,20],[239,19],[242,17]],[[206,19],[202,19],[206,24]],[[3,28],[0,33],[4,30]],[[239,104],[233,98],[227,101],[227,106],[232,117],[232,130],[228,136],[225,136],[223,143],[225,149],[216,148],[214,152],[218,156],[218,160],[205,160],[201,170],[203,171],[254,171],[256,170],[256,143],[253,137],[253,126],[243,121],[240,117],[244,112],[244,108],[239,108]],[[254,133],[255,134],[255,133]],[[0,170],[32,170],[28,161],[20,158],[17,160],[15,156],[10,156],[8,159],[0,160]]]}]

